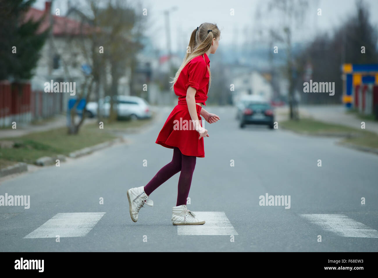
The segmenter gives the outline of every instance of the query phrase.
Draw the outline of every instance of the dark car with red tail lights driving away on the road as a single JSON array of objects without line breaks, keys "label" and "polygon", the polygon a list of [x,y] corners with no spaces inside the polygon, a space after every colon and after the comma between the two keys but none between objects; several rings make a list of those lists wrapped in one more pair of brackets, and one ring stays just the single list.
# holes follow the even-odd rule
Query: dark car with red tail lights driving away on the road
[{"label": "dark car with red tail lights driving away on the road", "polygon": [[240,127],[247,124],[268,125],[274,128],[273,108],[267,102],[251,102],[240,112]]}]

